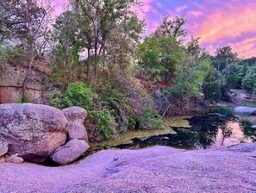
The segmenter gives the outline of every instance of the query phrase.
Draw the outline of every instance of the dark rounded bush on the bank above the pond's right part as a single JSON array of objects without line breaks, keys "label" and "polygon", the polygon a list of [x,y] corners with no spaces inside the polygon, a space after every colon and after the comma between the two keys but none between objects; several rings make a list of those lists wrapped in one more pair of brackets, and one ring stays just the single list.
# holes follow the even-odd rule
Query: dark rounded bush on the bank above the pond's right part
[{"label": "dark rounded bush on the bank above the pond's right part", "polygon": [[220,84],[209,83],[203,85],[203,95],[206,100],[218,102],[222,98]]}]

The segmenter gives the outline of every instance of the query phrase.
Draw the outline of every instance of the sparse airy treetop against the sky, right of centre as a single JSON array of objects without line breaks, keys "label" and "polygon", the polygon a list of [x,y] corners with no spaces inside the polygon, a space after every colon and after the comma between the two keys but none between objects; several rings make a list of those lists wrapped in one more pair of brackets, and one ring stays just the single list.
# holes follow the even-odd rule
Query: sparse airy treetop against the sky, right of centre
[{"label": "sparse airy treetop against the sky, right of centre", "polygon": [[172,36],[178,42],[182,42],[184,37],[188,34],[187,29],[184,28],[184,24],[187,20],[184,16],[176,16],[170,19],[168,16],[164,16],[162,23],[153,33],[157,37]]}]

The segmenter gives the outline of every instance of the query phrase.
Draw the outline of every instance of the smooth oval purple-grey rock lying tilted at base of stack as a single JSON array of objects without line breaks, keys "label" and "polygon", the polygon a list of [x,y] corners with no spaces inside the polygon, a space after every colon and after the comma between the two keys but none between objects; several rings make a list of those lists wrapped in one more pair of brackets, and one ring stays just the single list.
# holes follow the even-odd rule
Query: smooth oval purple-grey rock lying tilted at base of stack
[{"label": "smooth oval purple-grey rock lying tilted at base of stack", "polygon": [[89,147],[88,143],[84,140],[70,140],[65,146],[59,147],[51,155],[51,159],[60,165],[66,165],[78,159]]}]

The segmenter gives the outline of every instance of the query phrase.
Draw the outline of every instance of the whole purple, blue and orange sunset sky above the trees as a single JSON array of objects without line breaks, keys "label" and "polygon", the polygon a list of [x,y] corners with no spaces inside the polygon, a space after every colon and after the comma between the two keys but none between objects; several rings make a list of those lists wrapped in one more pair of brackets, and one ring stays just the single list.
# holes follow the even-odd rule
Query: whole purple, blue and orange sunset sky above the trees
[{"label": "whole purple, blue and orange sunset sky above the trees", "polygon": [[[54,0],[54,16],[63,9],[64,0]],[[209,53],[216,47],[230,46],[241,58],[256,56],[256,0],[141,0],[140,19],[147,21],[150,34],[162,16],[185,16],[189,35],[201,37]]]}]

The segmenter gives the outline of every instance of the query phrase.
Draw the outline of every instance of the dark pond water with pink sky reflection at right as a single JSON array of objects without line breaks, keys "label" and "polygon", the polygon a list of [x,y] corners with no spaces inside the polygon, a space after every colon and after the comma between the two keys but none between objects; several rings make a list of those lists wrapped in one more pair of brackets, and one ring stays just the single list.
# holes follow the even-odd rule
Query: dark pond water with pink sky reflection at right
[{"label": "dark pond water with pink sky reflection at right", "polygon": [[162,134],[147,139],[134,138],[132,144],[116,148],[143,148],[147,146],[172,146],[183,149],[219,149],[241,142],[255,142],[255,129],[244,129],[238,121],[227,120],[222,115],[210,114],[186,118],[190,127],[173,127],[177,134]]}]

